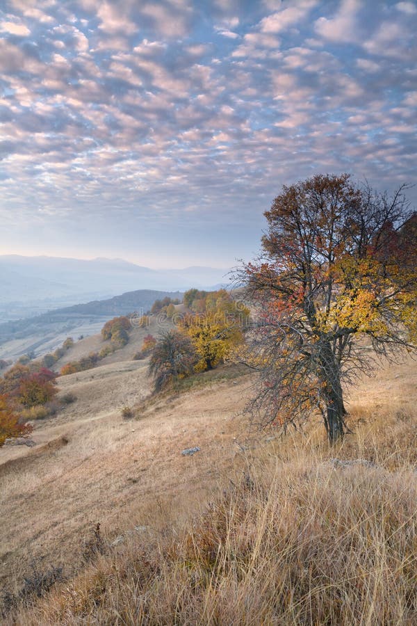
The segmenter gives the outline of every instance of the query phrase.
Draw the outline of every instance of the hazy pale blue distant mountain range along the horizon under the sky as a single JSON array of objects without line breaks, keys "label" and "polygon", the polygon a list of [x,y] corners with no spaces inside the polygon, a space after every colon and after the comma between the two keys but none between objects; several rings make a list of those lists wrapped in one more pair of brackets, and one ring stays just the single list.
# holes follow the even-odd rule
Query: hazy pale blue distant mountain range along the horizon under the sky
[{"label": "hazy pale blue distant mountain range along the horizon under the sky", "polygon": [[0,320],[138,289],[216,289],[229,282],[227,272],[211,267],[154,270],[123,259],[0,255]]}]

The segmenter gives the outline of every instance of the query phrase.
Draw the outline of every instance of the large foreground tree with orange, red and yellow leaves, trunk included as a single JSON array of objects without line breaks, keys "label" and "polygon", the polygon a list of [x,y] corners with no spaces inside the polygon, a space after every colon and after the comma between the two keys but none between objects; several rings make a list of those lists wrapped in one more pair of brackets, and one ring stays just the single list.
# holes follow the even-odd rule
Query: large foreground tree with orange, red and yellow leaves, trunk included
[{"label": "large foreground tree with orange, red and yellow leaves, trunk included", "polygon": [[320,411],[330,442],[345,433],[343,385],[373,355],[417,344],[416,214],[349,175],[284,186],[263,254],[239,274],[256,306],[246,361],[260,373],[248,410],[260,424]]}]

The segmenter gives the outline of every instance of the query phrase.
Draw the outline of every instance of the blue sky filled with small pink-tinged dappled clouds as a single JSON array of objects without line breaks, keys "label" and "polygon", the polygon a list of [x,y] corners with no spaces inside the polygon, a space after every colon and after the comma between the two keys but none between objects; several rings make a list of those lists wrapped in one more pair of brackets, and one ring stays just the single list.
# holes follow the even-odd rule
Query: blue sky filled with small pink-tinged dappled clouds
[{"label": "blue sky filled with small pink-tinged dappled clouds", "polygon": [[416,182],[416,1],[0,8],[0,254],[229,267],[283,184]]}]

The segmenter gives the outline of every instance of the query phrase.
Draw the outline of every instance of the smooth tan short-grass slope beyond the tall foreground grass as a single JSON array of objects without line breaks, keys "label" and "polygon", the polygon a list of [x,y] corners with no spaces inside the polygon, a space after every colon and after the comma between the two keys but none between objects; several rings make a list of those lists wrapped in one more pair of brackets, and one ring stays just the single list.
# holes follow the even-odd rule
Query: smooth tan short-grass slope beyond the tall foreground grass
[{"label": "smooth tan short-grass slope beyond the tall foreground grass", "polygon": [[[70,572],[79,565],[92,524],[100,522],[111,534],[133,519],[146,524],[156,498],[183,499],[192,509],[221,468],[233,464],[233,437],[240,430],[234,416],[245,383],[162,398],[137,419],[122,419],[123,406],[138,405],[150,392],[147,361],[131,360],[147,332],[133,330],[129,344],[99,367],[58,378],[60,395],[72,392],[76,401],[35,422],[34,448],[0,449],[2,517],[8,520],[1,536],[1,584],[13,571],[20,580],[32,559]],[[66,358],[85,354],[92,342],[99,346],[101,339],[76,343]],[[181,456],[195,445],[200,454]]]}]

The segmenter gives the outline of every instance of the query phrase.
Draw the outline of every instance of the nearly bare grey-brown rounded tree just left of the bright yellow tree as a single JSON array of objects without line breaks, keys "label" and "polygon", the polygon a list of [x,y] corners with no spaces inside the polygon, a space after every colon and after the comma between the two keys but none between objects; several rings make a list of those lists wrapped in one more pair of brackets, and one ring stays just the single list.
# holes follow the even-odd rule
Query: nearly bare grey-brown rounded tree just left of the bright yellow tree
[{"label": "nearly bare grey-brown rounded tree just left of the bright yellow tree", "polygon": [[155,391],[189,376],[194,364],[195,350],[189,337],[179,330],[163,332],[149,361],[149,375],[154,377]]}]

